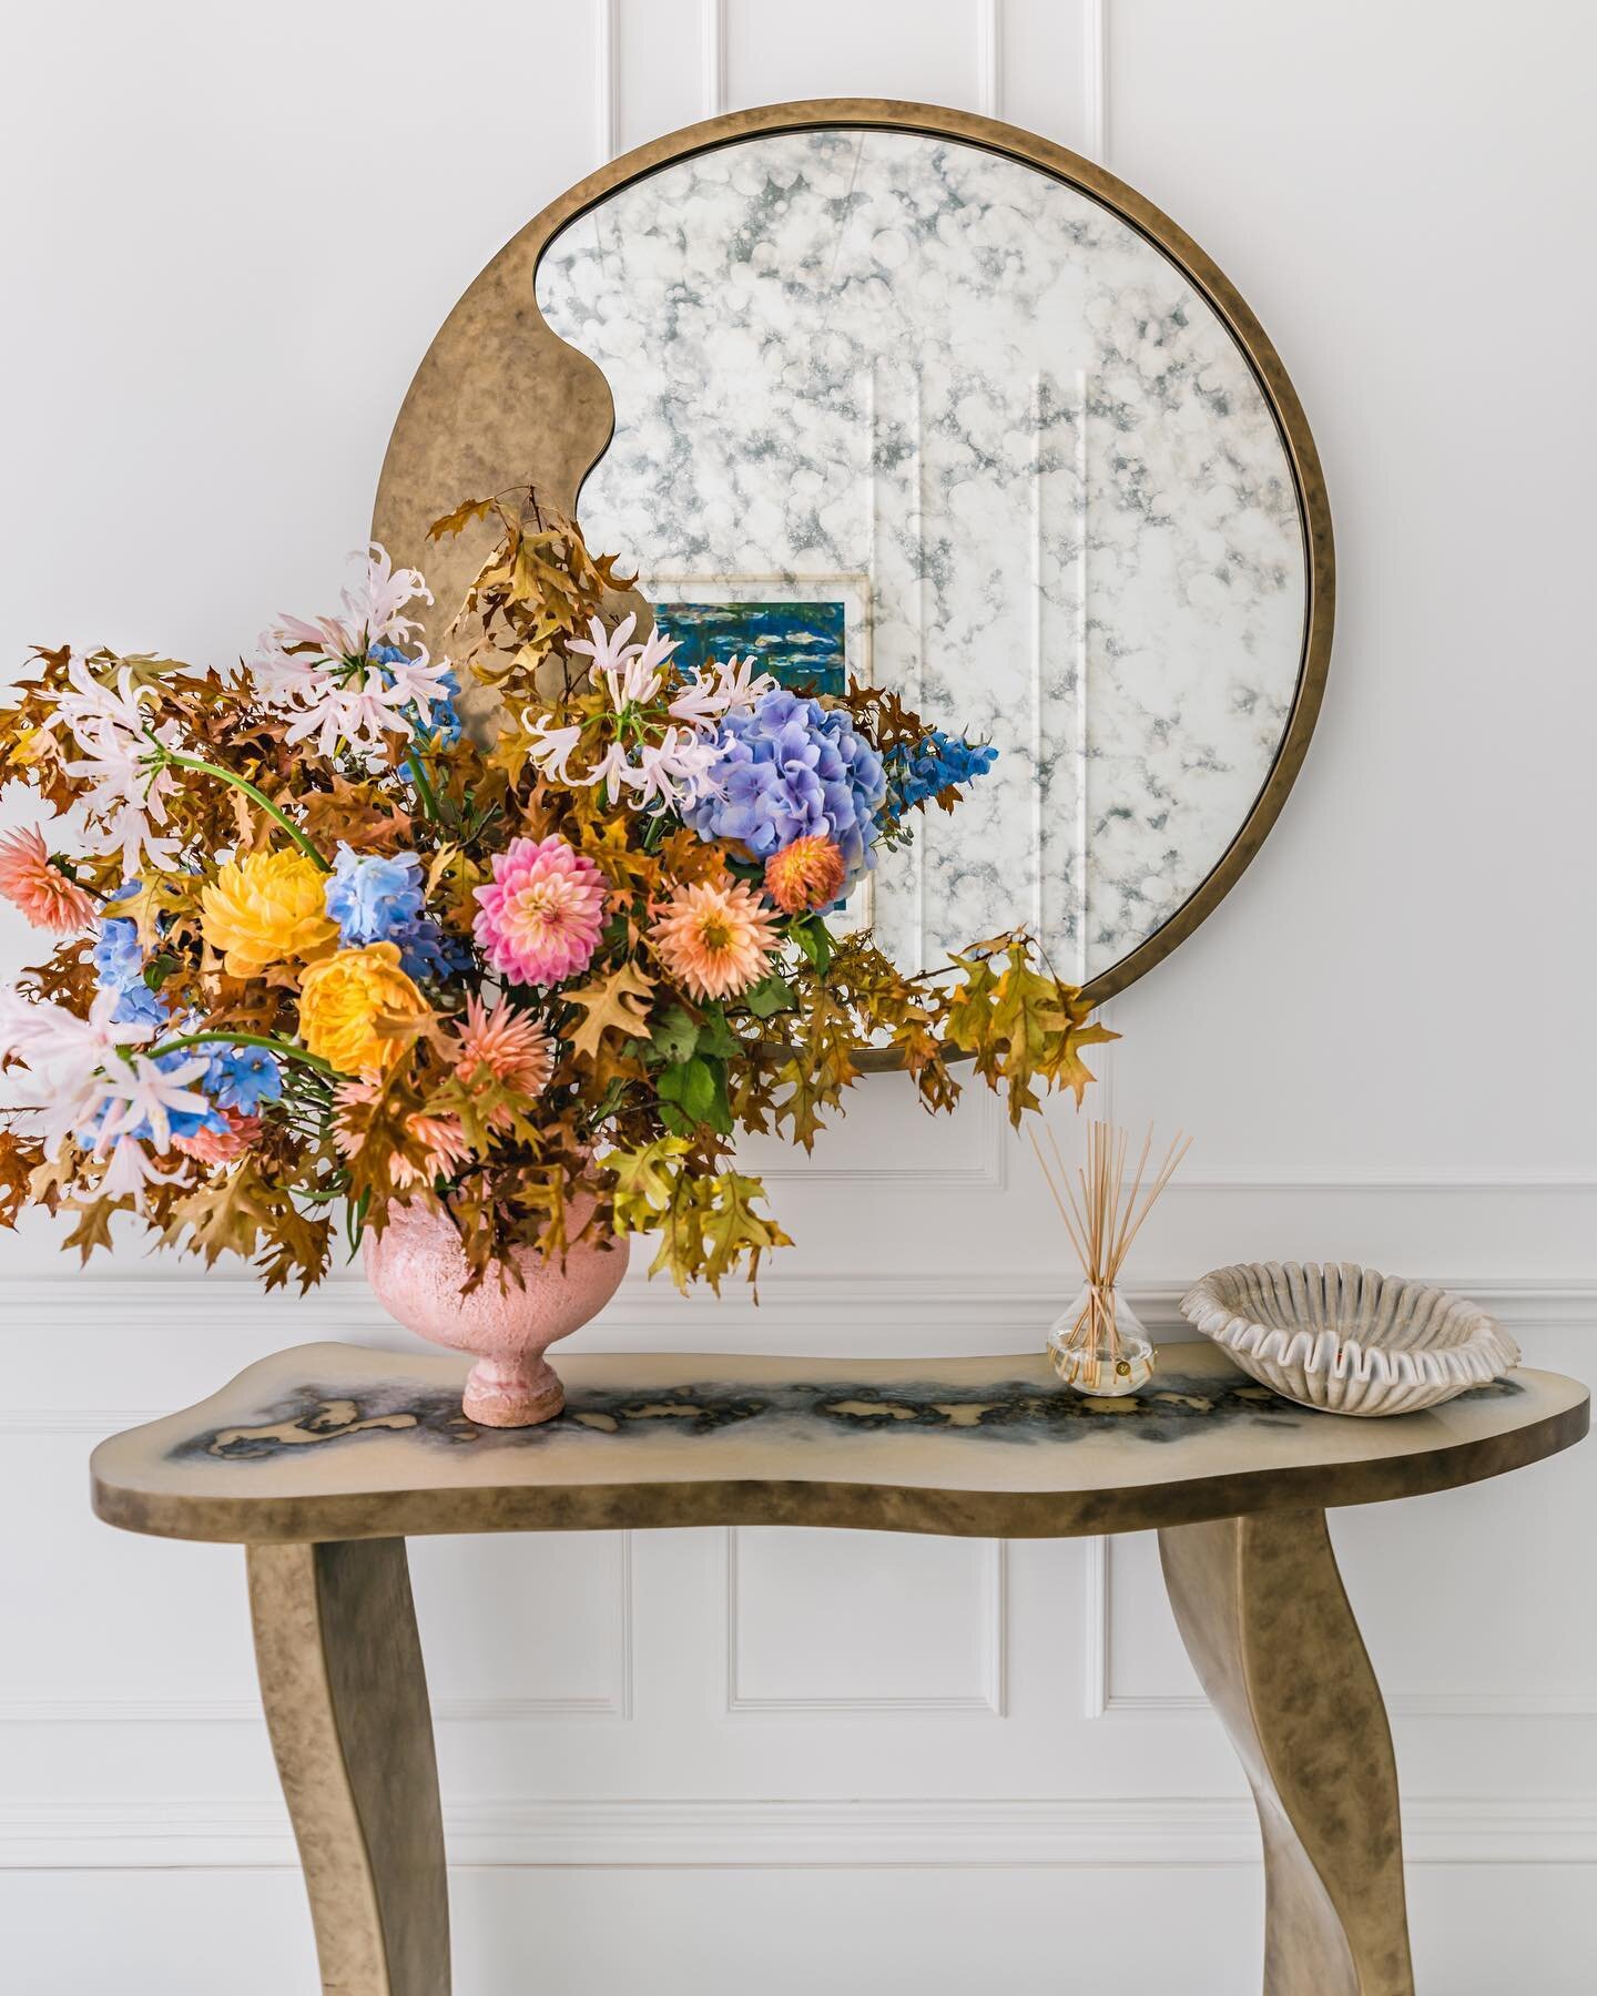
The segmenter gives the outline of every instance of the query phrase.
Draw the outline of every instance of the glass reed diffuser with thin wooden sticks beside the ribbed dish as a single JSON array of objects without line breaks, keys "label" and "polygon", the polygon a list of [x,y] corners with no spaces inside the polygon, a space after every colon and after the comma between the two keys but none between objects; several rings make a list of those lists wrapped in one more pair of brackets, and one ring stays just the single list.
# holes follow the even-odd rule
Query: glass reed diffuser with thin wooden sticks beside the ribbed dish
[{"label": "glass reed diffuser with thin wooden sticks beside the ribbed dish", "polygon": [[1152,1377],[1158,1353],[1132,1305],[1116,1291],[1116,1281],[1132,1242],[1142,1232],[1142,1222],[1176,1176],[1192,1138],[1176,1132],[1164,1164],[1146,1186],[1148,1154],[1154,1148],[1152,1124],[1130,1180],[1126,1178],[1130,1142],[1114,1124],[1088,1124],[1086,1166],[1076,1166],[1074,1172],[1060,1156],[1052,1130],[1048,1148],[1054,1154],[1052,1166],[1032,1132],[1036,1162],[1082,1263],[1082,1291],[1050,1327],[1048,1355],[1060,1379],[1080,1393],[1136,1393]]}]

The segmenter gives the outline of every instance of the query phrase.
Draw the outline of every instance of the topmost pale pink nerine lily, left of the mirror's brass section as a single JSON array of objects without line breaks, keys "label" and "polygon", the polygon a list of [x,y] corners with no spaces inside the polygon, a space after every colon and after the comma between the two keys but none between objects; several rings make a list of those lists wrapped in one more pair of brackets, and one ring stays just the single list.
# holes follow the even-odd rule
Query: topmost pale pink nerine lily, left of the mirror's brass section
[{"label": "topmost pale pink nerine lily, left of the mirror's brass section", "polygon": [[[421,629],[399,613],[413,599],[431,603],[431,591],[415,569],[393,569],[375,541],[351,561],[365,563],[365,579],[343,591],[343,615],[279,617],[262,633],[256,679],[267,701],[289,719],[287,743],[315,737],[317,752],[329,756],[339,741],[357,750],[377,750],[385,735],[415,733],[417,717],[431,719],[447,705],[447,659],[433,665],[427,653],[373,665],[373,647],[401,647]],[[305,647],[305,649],[297,649]]]}]

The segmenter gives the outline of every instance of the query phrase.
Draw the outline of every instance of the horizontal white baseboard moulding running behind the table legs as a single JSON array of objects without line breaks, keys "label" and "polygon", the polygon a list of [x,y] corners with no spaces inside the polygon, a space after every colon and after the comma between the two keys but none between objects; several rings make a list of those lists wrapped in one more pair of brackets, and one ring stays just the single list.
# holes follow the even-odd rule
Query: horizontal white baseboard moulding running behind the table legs
[{"label": "horizontal white baseboard moulding running behind the table legs", "polygon": [[[1597,1796],[1415,1796],[1409,1864],[1597,1864]],[[1122,1868],[1260,1862],[1252,1802],[467,1800],[445,1808],[461,1866]],[[236,1870],[295,1864],[271,1800],[0,1804],[4,1870]]]}]

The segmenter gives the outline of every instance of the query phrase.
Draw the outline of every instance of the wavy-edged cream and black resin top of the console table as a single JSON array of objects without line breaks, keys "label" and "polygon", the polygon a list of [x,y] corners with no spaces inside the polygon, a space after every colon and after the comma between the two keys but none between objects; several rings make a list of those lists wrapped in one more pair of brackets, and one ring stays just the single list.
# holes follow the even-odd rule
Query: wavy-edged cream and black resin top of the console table
[{"label": "wavy-edged cream and black resin top of the console table", "polygon": [[1208,1343],[1124,1399],[1042,1353],[960,1359],[561,1353],[543,1427],[461,1413],[467,1359],[297,1345],[94,1451],[112,1525],[246,1545],[451,1531],[838,1525],[1064,1537],[1373,1503],[1579,1441],[1583,1385],[1515,1371],[1425,1413],[1316,1413]]}]

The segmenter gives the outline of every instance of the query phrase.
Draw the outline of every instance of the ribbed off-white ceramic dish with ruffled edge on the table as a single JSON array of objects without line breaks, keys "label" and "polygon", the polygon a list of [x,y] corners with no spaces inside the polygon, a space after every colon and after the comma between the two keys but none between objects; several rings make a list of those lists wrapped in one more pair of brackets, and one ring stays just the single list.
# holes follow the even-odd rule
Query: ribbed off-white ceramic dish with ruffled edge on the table
[{"label": "ribbed off-white ceramic dish with ruffled edge on the table", "polygon": [[1519,1363],[1479,1305],[1353,1261],[1218,1267],[1182,1313],[1260,1385],[1326,1413],[1413,1413]]}]

